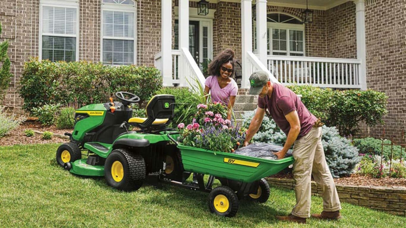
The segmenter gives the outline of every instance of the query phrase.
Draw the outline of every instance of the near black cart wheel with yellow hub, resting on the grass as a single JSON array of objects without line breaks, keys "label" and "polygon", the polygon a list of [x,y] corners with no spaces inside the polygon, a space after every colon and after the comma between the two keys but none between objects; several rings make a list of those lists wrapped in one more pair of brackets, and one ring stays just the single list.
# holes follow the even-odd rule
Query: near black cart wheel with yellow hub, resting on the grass
[{"label": "near black cart wheel with yellow hub, resting on the grass", "polygon": [[238,211],[237,194],[227,186],[214,188],[209,194],[209,209],[217,215],[234,217]]}]

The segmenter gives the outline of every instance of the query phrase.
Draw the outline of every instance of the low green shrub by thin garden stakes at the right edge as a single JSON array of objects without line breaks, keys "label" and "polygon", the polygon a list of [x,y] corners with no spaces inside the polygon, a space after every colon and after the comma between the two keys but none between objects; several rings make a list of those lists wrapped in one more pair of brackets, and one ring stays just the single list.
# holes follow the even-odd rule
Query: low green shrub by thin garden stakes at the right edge
[{"label": "low green shrub by thin garden stakes at the right edge", "polygon": [[[359,153],[363,153],[365,155],[378,155],[381,156],[382,153],[382,140],[374,139],[374,138],[365,138],[365,139],[354,139],[353,141],[354,146],[359,149]],[[391,144],[391,141],[385,139],[384,144]],[[393,145],[392,151],[392,158],[399,159],[400,158],[400,146]],[[403,157],[406,153],[405,149],[402,149]],[[384,145],[383,146],[383,156],[386,159],[391,158],[391,146]]]}]

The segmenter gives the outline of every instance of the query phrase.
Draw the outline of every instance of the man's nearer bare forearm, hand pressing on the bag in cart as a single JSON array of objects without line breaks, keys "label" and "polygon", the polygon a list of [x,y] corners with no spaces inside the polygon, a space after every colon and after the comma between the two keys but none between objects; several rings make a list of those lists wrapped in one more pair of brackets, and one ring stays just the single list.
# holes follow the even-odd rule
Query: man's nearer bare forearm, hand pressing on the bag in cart
[{"label": "man's nearer bare forearm, hand pressing on the bag in cart", "polygon": [[292,147],[293,143],[296,141],[300,133],[300,121],[298,112],[296,110],[292,111],[285,115],[285,118],[290,124],[290,130],[287,134],[286,143],[285,145],[283,145],[283,149],[274,153],[276,156],[278,156],[278,159],[285,157],[285,154],[287,153],[289,148]]}]

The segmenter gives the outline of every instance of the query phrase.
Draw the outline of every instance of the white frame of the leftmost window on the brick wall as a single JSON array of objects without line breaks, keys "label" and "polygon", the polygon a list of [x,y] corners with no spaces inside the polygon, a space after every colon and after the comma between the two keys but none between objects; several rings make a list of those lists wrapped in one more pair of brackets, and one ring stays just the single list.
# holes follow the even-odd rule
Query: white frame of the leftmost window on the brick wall
[{"label": "white frame of the leftmost window on the brick wall", "polygon": [[[76,35],[73,34],[56,34],[42,32],[42,11],[43,6],[63,7],[76,9]],[[79,61],[79,1],[78,0],[40,0],[39,1],[39,45],[38,59],[42,60],[42,36],[60,36],[76,37],[76,56],[75,61]]]}]

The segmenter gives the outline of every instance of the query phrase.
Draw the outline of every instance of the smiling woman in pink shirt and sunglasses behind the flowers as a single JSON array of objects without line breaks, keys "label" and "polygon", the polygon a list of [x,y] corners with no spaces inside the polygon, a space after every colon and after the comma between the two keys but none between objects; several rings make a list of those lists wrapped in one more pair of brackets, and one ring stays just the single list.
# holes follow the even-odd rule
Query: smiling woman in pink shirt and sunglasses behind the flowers
[{"label": "smiling woman in pink shirt and sunglasses behind the flowers", "polygon": [[227,119],[231,120],[238,85],[232,78],[234,75],[234,51],[226,49],[218,54],[207,66],[209,77],[205,81],[204,93],[211,92],[212,102],[222,102],[228,108]]}]

